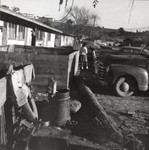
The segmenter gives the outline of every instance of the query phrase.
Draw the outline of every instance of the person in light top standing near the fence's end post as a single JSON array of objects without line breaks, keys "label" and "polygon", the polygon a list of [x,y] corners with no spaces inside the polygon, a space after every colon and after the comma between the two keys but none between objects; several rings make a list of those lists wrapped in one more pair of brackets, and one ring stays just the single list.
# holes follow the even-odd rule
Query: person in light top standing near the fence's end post
[{"label": "person in light top standing near the fence's end post", "polygon": [[88,69],[88,59],[87,59],[88,49],[86,44],[83,43],[82,47],[80,48],[80,62],[81,62],[81,69],[85,68]]}]

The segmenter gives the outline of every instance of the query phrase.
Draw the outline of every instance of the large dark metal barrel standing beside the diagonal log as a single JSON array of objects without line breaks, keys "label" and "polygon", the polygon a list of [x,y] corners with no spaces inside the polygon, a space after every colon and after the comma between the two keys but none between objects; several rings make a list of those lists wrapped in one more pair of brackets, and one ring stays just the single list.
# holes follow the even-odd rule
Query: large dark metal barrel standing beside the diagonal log
[{"label": "large dark metal barrel standing beside the diagonal log", "polygon": [[59,89],[49,101],[50,123],[53,126],[63,126],[70,120],[70,93],[67,89]]}]

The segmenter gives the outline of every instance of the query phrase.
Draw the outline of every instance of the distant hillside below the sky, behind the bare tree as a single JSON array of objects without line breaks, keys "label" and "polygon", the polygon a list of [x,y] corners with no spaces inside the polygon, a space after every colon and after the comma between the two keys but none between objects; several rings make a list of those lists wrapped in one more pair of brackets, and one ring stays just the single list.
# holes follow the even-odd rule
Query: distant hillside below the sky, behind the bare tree
[{"label": "distant hillside below the sky, behind the bare tree", "polygon": [[62,23],[53,21],[47,18],[40,18],[40,21],[50,25],[54,28],[62,30],[66,34],[74,34],[76,36],[86,36],[91,39],[99,39],[103,41],[123,41],[130,40],[137,42],[140,45],[149,41],[149,32],[127,32],[123,28],[119,29],[108,29],[103,27],[91,27],[91,26],[75,26],[69,23]]}]

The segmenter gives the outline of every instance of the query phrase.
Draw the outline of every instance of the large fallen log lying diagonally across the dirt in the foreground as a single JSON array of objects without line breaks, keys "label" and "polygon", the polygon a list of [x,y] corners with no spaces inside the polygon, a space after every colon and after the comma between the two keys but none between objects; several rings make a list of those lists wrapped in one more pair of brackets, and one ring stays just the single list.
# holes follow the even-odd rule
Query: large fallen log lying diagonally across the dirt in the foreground
[{"label": "large fallen log lying diagonally across the dirt in the foreground", "polygon": [[123,142],[123,134],[118,129],[114,120],[106,113],[104,108],[100,105],[97,98],[87,87],[80,76],[75,76],[72,85],[78,90],[81,96],[81,103],[85,106],[90,115],[97,118],[101,125],[106,128],[109,136],[120,143]]}]

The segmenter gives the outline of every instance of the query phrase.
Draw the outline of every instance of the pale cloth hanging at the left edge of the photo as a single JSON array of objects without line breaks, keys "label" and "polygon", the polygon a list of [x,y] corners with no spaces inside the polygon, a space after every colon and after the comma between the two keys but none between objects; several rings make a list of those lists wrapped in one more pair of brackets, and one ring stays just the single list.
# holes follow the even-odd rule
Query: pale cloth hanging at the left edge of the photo
[{"label": "pale cloth hanging at the left edge of the photo", "polygon": [[5,77],[0,79],[0,108],[6,101],[6,84],[7,80]]}]

